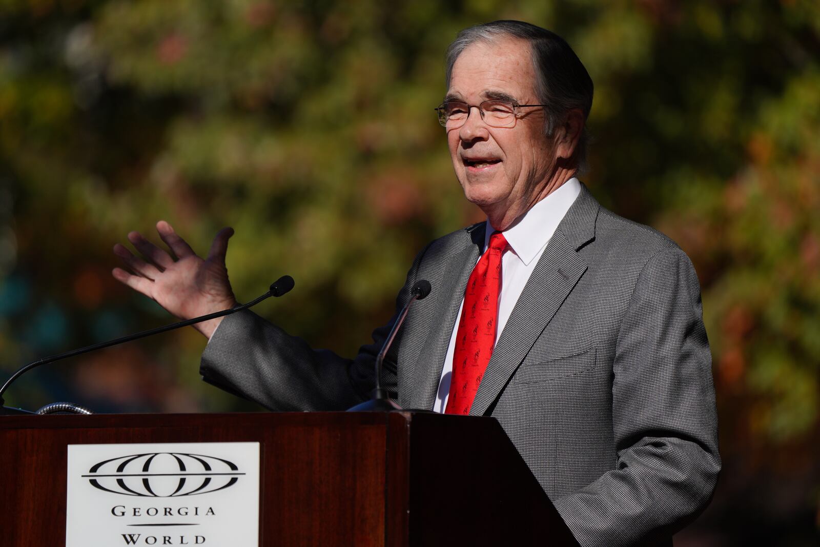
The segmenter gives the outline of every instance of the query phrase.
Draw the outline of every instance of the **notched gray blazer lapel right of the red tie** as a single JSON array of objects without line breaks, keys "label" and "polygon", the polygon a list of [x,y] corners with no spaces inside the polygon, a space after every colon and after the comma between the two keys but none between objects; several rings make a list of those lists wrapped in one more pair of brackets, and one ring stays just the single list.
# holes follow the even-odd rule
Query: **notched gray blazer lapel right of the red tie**
[{"label": "notched gray blazer lapel right of the red tie", "polygon": [[[578,249],[594,239],[600,205],[585,186],[555,230],[504,326],[470,408],[483,415],[584,275]],[[463,289],[462,289],[463,293]],[[451,327],[452,328],[452,327]],[[446,348],[445,348],[446,350]]]}]

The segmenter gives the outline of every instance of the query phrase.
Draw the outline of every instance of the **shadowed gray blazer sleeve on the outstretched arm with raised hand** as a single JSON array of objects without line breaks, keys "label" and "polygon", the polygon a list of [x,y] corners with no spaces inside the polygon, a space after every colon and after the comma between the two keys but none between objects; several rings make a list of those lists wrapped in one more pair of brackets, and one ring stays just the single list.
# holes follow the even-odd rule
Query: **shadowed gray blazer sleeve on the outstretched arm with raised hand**
[{"label": "shadowed gray blazer sleeve on the outstretched arm with raised hand", "polygon": [[[363,345],[355,358],[312,349],[305,340],[245,310],[225,317],[208,341],[199,367],[203,380],[278,411],[344,410],[369,399],[376,354],[410,299],[423,254],[408,271],[394,316],[373,331],[372,343]],[[393,344],[385,356],[381,377],[382,386],[394,398],[398,398],[397,347]]]}]

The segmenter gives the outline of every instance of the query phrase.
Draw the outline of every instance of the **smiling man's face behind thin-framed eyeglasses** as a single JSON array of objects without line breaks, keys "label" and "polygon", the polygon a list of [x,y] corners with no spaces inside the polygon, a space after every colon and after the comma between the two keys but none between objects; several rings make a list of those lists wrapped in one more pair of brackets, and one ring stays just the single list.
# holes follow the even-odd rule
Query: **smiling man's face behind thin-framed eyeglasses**
[{"label": "smiling man's face behind thin-framed eyeglasses", "polygon": [[[494,98],[538,104],[529,45],[517,39],[472,43],[453,66],[445,100],[479,105]],[[522,108],[513,127],[490,127],[477,108],[448,130],[453,167],[464,194],[490,217],[518,217],[532,206],[553,171],[544,111]],[[496,228],[504,229],[502,226]]]}]

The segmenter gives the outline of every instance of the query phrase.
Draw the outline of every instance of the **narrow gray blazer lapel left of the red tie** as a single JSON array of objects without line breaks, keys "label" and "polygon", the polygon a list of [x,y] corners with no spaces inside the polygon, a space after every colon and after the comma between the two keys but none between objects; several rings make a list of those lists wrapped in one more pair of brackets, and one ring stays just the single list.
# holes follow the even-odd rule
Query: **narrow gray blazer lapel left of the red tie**
[{"label": "narrow gray blazer lapel left of the red tie", "polygon": [[432,328],[413,367],[410,397],[405,405],[409,408],[433,408],[458,308],[464,298],[467,280],[470,279],[472,269],[476,266],[481,248],[484,246],[485,226],[486,224],[481,222],[467,230],[470,236],[467,245],[450,258],[444,269],[439,288],[440,296],[430,322]]}]

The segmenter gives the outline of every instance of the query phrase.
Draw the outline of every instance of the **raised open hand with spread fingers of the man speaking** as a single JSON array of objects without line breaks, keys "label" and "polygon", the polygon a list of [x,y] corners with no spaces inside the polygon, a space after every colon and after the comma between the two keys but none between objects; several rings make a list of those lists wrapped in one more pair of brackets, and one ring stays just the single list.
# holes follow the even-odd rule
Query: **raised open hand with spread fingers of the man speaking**
[{"label": "raised open hand with spread fingers of the man speaking", "polygon": [[[176,260],[143,235],[130,232],[128,240],[144,258],[135,257],[124,245],[114,245],[114,253],[133,272],[114,268],[112,275],[116,280],[154,299],[180,319],[219,312],[235,305],[225,267],[225,253],[228,239],[234,235],[233,228],[223,228],[216,234],[204,260],[166,221],[157,222],[157,232],[176,255]],[[194,327],[210,338],[220,321],[221,317],[197,323]]]}]

